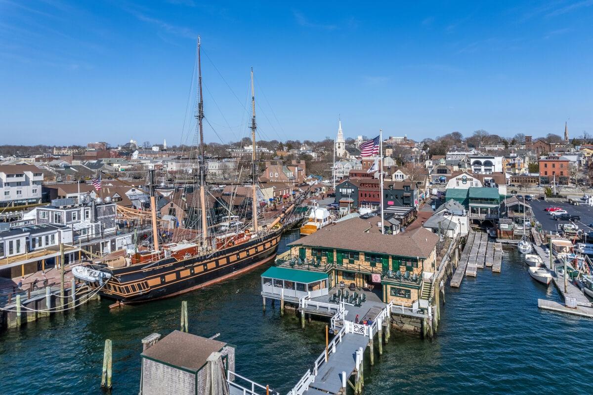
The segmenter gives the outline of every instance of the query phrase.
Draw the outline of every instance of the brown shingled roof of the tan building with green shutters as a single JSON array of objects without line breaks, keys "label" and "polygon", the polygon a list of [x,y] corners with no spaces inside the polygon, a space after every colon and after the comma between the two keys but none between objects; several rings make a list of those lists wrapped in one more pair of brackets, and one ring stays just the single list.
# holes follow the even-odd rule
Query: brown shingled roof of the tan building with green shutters
[{"label": "brown shingled roof of the tan building with green shutters", "polygon": [[377,219],[354,218],[323,227],[289,245],[428,258],[439,240],[438,235],[422,227],[397,235],[382,235],[375,231],[378,231]]}]

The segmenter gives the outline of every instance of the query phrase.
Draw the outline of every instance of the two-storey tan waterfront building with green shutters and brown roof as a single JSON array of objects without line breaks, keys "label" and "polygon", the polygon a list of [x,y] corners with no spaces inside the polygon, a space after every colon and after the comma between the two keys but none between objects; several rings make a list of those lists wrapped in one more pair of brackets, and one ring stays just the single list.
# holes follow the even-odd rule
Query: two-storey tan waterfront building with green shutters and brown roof
[{"label": "two-storey tan waterfront building with green shutters and brown roof", "polygon": [[382,301],[413,306],[430,286],[439,236],[422,227],[382,235],[379,217],[354,218],[323,227],[290,243],[276,263],[327,274],[329,287],[343,281],[371,289]]}]

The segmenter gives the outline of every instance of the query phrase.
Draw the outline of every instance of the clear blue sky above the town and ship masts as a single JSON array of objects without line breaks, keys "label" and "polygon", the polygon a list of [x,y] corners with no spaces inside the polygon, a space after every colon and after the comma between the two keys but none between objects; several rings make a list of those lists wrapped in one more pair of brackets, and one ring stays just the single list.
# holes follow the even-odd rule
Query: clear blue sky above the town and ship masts
[{"label": "clear blue sky above the town and ship masts", "polygon": [[[412,4],[410,4],[412,3]],[[0,144],[593,134],[593,0],[0,0]],[[223,115],[224,114],[224,115]],[[189,120],[188,120],[189,117]]]}]

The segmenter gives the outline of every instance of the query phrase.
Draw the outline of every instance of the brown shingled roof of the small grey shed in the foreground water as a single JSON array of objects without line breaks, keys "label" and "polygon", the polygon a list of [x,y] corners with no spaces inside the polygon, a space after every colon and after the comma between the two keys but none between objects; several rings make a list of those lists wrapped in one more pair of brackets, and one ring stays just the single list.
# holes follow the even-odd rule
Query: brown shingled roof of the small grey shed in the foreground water
[{"label": "brown shingled roof of the small grey shed in the foreground water", "polygon": [[221,351],[227,343],[174,330],[141,355],[180,368],[197,372],[210,354]]}]

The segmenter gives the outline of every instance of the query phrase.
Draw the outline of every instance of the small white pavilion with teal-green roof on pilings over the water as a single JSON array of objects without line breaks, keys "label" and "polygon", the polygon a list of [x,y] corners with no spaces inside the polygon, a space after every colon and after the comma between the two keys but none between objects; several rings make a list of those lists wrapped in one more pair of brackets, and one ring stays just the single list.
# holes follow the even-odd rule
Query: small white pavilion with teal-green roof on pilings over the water
[{"label": "small white pavilion with teal-green roof on pilings over the water", "polygon": [[329,293],[328,275],[323,272],[307,271],[272,266],[262,273],[262,293],[282,295],[287,298],[312,298]]}]

